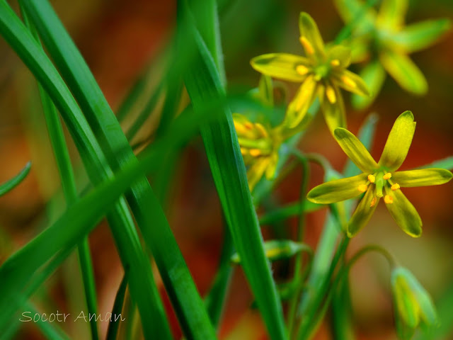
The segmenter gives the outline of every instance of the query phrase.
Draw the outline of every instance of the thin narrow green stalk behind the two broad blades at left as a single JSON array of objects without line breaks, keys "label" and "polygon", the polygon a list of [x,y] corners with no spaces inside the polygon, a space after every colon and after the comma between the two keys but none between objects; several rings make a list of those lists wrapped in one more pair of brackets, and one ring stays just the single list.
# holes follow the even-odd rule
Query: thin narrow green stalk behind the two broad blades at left
[{"label": "thin narrow green stalk behind the two broad blades at left", "polygon": [[[25,26],[27,26],[28,30],[30,30],[35,40],[39,43],[40,40],[38,37],[38,32],[36,32],[35,28],[30,25],[28,16],[25,11],[23,11],[22,6],[21,13]],[[59,169],[64,198],[66,200],[67,206],[69,206],[74,204],[78,198],[76,181],[74,179],[74,172],[72,171],[71,159],[69,157],[66,140],[64,139],[62,124],[60,123],[57,109],[52,103],[52,100],[49,98],[49,96],[47,96],[45,90],[42,89],[42,86],[39,83],[38,90],[42,101],[42,110],[44,112],[45,121],[47,123],[47,131],[49,132],[50,143],[52,145],[52,148],[54,149],[55,159],[57,161],[57,166]],[[93,262],[91,260],[88,237],[84,238],[77,248],[79,254],[80,270],[84,283],[86,307],[88,309],[89,315],[96,315],[98,314],[98,304],[96,302],[96,282],[94,280]],[[99,339],[96,318],[90,319],[90,329],[91,338],[93,340]]]}]

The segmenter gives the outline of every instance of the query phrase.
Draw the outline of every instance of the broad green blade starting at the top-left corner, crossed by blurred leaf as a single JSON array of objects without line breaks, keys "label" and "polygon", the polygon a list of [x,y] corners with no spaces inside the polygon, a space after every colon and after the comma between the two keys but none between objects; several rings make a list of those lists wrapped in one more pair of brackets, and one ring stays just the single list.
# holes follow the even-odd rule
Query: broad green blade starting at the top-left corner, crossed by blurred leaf
[{"label": "broad green blade starting at the top-left corner, crossed by blurred leaf", "polygon": [[[26,4],[28,4],[28,1],[23,3],[25,8]],[[42,51],[38,42],[28,33],[28,30],[4,0],[0,1],[0,33],[13,47],[13,50],[16,50],[18,56],[21,57],[30,71],[40,81],[47,94],[55,102],[60,113],[62,113],[84,161],[88,176],[91,177],[91,181],[99,183],[104,179],[111,178],[113,172],[107,166],[107,162],[103,158],[103,152],[66,84],[59,77],[58,72]],[[160,322],[157,322],[159,327],[157,327],[155,319],[154,323],[145,322],[145,335],[151,338],[151,336],[155,336],[155,334],[160,332],[162,336],[166,333],[166,337],[170,338],[171,333],[165,317],[164,307],[159,303],[159,294],[152,278],[151,267],[142,251],[142,246],[135,232],[134,222],[132,217],[130,217],[125,200],[121,198],[115,208],[108,213],[108,220],[113,230],[115,242],[120,249],[123,266],[130,266],[131,268],[131,291],[137,297],[137,303],[142,315],[144,318],[147,315],[154,315],[155,319],[160,319]],[[5,322],[5,319],[0,321]]]}]

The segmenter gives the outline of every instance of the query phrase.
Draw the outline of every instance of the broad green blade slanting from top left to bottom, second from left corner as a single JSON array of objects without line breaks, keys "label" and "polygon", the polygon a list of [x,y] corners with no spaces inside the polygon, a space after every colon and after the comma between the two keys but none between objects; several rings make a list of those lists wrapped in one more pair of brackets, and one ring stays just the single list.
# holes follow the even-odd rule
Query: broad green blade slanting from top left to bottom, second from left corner
[{"label": "broad green blade slanting from top left to bottom, second from left corner", "polygon": [[[25,8],[76,100],[83,108],[91,127],[98,134],[110,166],[118,169],[128,163],[137,163],[93,74],[52,6],[47,0],[30,0],[25,2]],[[214,329],[195,283],[168,226],[159,200],[147,179],[145,177],[137,179],[132,188],[126,192],[126,197],[142,230],[144,240],[154,255],[185,335],[200,339],[214,336]]]}]

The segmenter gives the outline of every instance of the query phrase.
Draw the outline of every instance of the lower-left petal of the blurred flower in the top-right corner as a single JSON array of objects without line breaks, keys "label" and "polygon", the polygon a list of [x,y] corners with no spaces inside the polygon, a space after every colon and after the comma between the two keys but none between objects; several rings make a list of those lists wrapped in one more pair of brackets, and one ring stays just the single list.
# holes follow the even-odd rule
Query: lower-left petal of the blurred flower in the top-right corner
[{"label": "lower-left petal of the blurred flower in the top-right corner", "polygon": [[385,70],[379,60],[373,60],[360,72],[360,77],[367,84],[371,96],[358,96],[357,94],[352,95],[352,106],[357,109],[364,109],[371,105],[374,99],[381,91],[382,84],[385,80]]}]

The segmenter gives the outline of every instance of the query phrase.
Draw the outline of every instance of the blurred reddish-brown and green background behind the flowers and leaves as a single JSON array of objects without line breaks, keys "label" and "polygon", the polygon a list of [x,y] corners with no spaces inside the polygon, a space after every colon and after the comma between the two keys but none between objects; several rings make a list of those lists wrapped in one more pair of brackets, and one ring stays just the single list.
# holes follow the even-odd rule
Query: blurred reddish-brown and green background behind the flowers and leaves
[{"label": "blurred reddish-brown and green background behind the flowers and leaves", "polygon": [[[15,1],[9,1],[17,9]],[[406,21],[428,18],[453,18],[451,0],[412,0]],[[135,111],[144,105],[163,71],[165,51],[175,20],[174,1],[77,0],[52,1],[76,45],[91,67],[114,110],[120,106],[134,81],[149,69],[147,93]],[[259,74],[249,64],[256,55],[268,52],[302,53],[297,20],[300,11],[308,12],[318,24],[324,40],[336,37],[343,27],[332,0],[231,0],[219,1],[220,27],[226,75],[231,89],[251,89]],[[183,56],[181,56],[183,57]],[[379,114],[372,155],[379,158],[386,136],[400,113],[413,111],[417,129],[413,145],[402,169],[428,164],[453,154],[453,34],[436,45],[411,55],[428,79],[426,96],[416,97],[399,88],[390,77],[377,101],[365,111],[354,111],[345,94],[348,125],[357,132],[368,113]],[[352,70],[358,70],[355,65]],[[147,137],[159,118],[156,113],[145,123],[140,137]],[[125,122],[125,128],[130,122]],[[68,136],[68,140],[70,138]],[[71,142],[71,157],[76,167],[79,188],[86,185],[76,149]],[[319,152],[341,171],[345,154],[331,138],[321,115],[311,124],[299,143],[304,152]],[[0,198],[0,263],[54,220],[62,207],[59,176],[42,116],[33,77],[21,60],[0,39],[0,183],[18,173],[26,162],[32,170],[18,188]],[[222,247],[222,218],[217,193],[201,140],[194,140],[172,169],[174,178],[166,194],[168,220],[180,249],[195,278],[200,293],[209,290]],[[283,205],[299,198],[299,169],[293,171],[275,192],[274,203]],[[321,183],[319,166],[311,168],[313,187]],[[159,185],[159,183],[155,183]],[[391,251],[401,265],[418,277],[439,305],[453,296],[453,185],[408,188],[406,196],[423,220],[423,237],[412,239],[401,232],[380,205],[369,225],[350,243],[349,254],[365,244],[379,244]],[[261,213],[264,209],[259,210]],[[316,247],[326,215],[325,210],[306,217],[306,242]],[[292,232],[296,220],[282,224]],[[273,229],[263,229],[266,238]],[[102,222],[90,235],[95,265],[99,312],[110,312],[122,278],[120,260],[110,231]],[[42,311],[72,314],[84,309],[81,278],[71,256],[59,268],[35,302]],[[287,263],[277,263],[276,276],[288,276]],[[155,271],[158,276],[157,271]],[[161,283],[166,307],[171,314],[175,336],[180,336],[176,318]],[[389,268],[379,256],[370,254],[359,261],[350,276],[352,305],[357,339],[395,339]],[[222,321],[222,339],[266,339],[259,314],[251,308],[253,297],[240,269],[234,271]],[[449,309],[447,308],[447,314]],[[451,312],[453,315],[453,310]],[[21,324],[16,339],[44,339],[33,324]],[[73,339],[88,339],[88,324],[60,323]],[[106,323],[101,323],[105,335]],[[333,339],[325,322],[316,339]],[[449,338],[453,339],[453,335]]]}]

